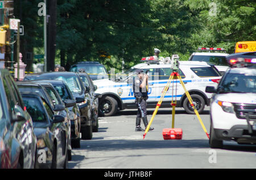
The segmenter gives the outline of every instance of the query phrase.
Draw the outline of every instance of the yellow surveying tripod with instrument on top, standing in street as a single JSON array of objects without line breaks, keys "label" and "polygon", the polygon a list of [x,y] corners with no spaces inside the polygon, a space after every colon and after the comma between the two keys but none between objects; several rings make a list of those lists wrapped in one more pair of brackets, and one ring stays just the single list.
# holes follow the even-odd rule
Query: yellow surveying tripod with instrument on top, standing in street
[{"label": "yellow surveying tripod with instrument on top, standing in street", "polygon": [[171,73],[171,75],[168,79],[166,87],[164,87],[164,89],[163,89],[163,92],[162,92],[162,95],[160,97],[160,100],[158,101],[158,104],[156,104],[156,108],[154,110],[154,113],[153,113],[153,115],[150,119],[150,122],[148,123],[148,126],[147,126],[147,128],[146,128],[146,130],[143,134],[143,139],[145,138],[145,136],[146,136],[146,134],[147,134],[147,132],[148,132],[150,126],[151,126],[151,123],[153,122],[153,120],[155,118],[155,115],[158,112],[158,109],[160,108],[160,106],[162,104],[163,98],[166,95],[166,92],[168,91],[171,82],[172,82],[172,102],[171,102],[171,105],[172,105],[172,128],[174,128],[175,107],[176,107],[176,104],[177,104],[176,94],[175,94],[175,101],[174,101],[174,81],[173,81],[174,79],[176,79],[176,93],[177,93],[177,79],[179,79],[180,84],[182,85],[182,87],[185,91],[185,95],[187,96],[190,105],[193,107],[193,110],[194,110],[195,114],[197,115],[197,118],[199,119],[199,122],[200,122],[201,126],[203,127],[203,130],[204,130],[205,134],[207,135],[207,137],[209,139],[209,134],[208,134],[208,132],[207,132],[205,126],[204,126],[204,123],[203,123],[202,119],[200,118],[200,115],[197,112],[197,109],[196,109],[195,105],[193,104],[193,100],[192,100],[191,96],[189,95],[189,92],[185,88],[185,84],[184,84],[183,80],[181,79],[181,77],[179,75],[179,55],[177,55],[177,54],[172,55],[171,68],[172,68],[172,73]]}]

